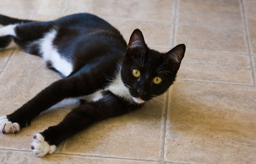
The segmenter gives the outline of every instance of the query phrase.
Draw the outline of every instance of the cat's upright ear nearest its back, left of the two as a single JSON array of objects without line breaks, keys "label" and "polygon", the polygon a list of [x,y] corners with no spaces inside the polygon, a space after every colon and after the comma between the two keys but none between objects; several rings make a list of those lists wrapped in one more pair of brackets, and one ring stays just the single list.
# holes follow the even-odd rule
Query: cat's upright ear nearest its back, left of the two
[{"label": "cat's upright ear nearest its back, left of the two", "polygon": [[145,54],[146,51],[147,45],[144,41],[143,34],[140,29],[135,29],[131,34],[131,38],[127,46],[127,52],[131,53],[127,53],[127,55],[141,56],[142,54]]}]

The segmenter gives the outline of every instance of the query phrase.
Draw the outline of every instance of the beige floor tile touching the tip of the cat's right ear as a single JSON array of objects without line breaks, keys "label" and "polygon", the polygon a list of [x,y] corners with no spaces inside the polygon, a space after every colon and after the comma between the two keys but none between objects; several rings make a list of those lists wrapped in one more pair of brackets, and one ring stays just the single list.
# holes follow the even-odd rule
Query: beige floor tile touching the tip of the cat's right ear
[{"label": "beige floor tile touching the tip of the cat's right ear", "polygon": [[179,24],[175,39],[190,49],[247,52],[242,28]]}]

